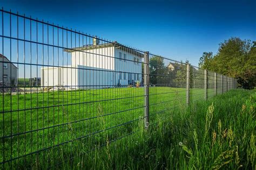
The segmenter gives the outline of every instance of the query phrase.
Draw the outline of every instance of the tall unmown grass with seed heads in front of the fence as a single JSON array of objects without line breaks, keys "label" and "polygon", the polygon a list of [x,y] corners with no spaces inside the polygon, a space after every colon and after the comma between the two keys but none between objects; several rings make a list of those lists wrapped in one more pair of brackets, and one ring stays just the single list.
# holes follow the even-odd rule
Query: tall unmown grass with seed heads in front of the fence
[{"label": "tall unmown grass with seed heads in front of the fence", "polygon": [[[174,109],[149,130],[93,152],[84,145],[73,169],[255,169],[256,91],[231,90],[190,108]],[[62,167],[62,168],[63,168]]]}]

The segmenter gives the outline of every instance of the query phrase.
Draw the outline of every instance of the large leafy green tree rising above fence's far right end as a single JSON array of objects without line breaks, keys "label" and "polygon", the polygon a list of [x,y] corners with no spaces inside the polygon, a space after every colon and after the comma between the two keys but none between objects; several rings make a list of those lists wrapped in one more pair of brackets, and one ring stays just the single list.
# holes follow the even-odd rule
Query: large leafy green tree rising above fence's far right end
[{"label": "large leafy green tree rising above fence's far right end", "polygon": [[220,43],[218,53],[204,53],[199,67],[238,79],[244,88],[256,86],[256,43],[240,38],[230,38]]}]

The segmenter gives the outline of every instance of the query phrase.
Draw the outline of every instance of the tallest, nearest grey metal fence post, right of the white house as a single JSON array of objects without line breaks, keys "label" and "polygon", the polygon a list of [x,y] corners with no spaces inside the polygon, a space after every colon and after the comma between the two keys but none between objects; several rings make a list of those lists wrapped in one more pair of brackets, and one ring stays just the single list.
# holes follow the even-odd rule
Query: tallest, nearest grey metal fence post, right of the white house
[{"label": "tallest, nearest grey metal fence post, right of the white house", "polygon": [[149,52],[144,53],[144,125],[149,127]]}]

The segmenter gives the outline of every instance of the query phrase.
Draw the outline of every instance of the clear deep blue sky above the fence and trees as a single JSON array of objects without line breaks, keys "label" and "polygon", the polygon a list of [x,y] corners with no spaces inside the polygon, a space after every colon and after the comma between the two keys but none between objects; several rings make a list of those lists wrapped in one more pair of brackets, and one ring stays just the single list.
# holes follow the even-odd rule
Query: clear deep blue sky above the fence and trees
[{"label": "clear deep blue sky above the fence and trees", "polygon": [[256,1],[1,0],[25,13],[174,60],[198,66],[230,37],[256,40]]}]

